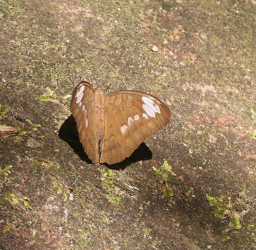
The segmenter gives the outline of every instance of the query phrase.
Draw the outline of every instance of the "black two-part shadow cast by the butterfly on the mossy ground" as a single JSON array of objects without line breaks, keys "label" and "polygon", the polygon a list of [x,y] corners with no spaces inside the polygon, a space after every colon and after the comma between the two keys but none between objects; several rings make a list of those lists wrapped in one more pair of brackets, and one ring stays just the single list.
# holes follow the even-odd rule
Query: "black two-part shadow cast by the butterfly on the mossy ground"
[{"label": "black two-part shadow cast by the butterfly on the mossy ground", "polygon": [[[79,141],[79,135],[77,131],[77,124],[74,120],[74,117],[70,115],[65,122],[61,125],[60,130],[58,131],[58,137],[61,140],[67,142],[67,144],[72,147],[74,153],[77,153],[77,156],[86,163],[92,163],[92,161],[88,158],[87,154],[83,151],[83,146]],[[143,142],[140,146],[132,153],[129,158],[122,160],[120,163],[115,163],[113,165],[109,165],[104,163],[106,167],[110,169],[125,169],[125,167],[131,165],[132,163],[136,163],[141,160],[150,160],[152,158],[152,151],[147,147],[147,145]]]}]

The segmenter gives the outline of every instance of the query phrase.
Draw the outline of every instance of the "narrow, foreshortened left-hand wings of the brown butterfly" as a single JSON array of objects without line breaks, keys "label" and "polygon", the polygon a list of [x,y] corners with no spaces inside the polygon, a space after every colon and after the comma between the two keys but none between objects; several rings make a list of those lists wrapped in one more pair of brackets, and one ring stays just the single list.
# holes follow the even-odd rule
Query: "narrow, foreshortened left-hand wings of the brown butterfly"
[{"label": "narrow, foreshortened left-hand wings of the brown butterfly", "polygon": [[88,158],[99,162],[95,124],[95,93],[89,83],[79,83],[72,94],[72,115],[77,122],[79,140]]}]

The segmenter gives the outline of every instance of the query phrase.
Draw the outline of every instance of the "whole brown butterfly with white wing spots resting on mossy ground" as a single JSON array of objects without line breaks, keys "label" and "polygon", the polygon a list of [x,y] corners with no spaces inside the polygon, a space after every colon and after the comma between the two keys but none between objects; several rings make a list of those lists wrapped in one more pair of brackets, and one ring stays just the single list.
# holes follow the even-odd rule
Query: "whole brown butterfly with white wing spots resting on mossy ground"
[{"label": "whole brown butterfly with white wing spots resting on mossy ground", "polygon": [[71,109],[88,158],[109,165],[131,156],[170,120],[169,108],[157,97],[131,90],[105,97],[102,90],[93,90],[86,82],[74,89]]}]

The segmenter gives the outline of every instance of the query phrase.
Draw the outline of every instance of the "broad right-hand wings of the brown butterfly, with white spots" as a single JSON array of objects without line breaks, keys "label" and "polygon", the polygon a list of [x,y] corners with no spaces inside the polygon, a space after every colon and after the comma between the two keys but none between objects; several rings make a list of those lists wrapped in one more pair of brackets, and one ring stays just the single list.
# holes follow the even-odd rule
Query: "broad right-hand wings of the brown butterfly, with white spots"
[{"label": "broad right-hand wings of the brown butterfly, with white spots", "polygon": [[114,164],[131,153],[170,119],[169,108],[157,97],[137,91],[109,94],[104,103],[104,138],[100,163]]}]

